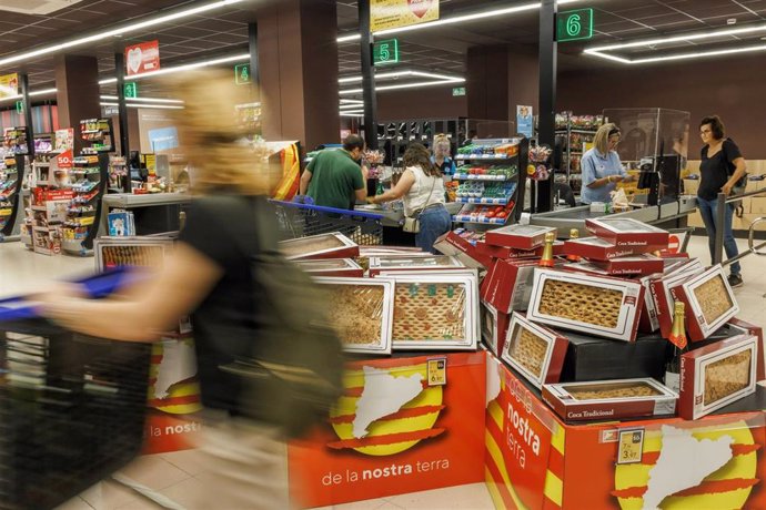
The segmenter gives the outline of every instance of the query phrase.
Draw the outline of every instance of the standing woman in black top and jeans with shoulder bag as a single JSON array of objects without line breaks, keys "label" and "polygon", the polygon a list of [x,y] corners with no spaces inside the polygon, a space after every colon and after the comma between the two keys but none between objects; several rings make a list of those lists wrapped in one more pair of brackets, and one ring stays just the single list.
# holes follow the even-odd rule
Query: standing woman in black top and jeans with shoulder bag
[{"label": "standing woman in black top and jeans with shoulder bag", "polygon": [[[710,258],[715,251],[715,236],[719,228],[724,230],[724,248],[726,256],[734,258],[739,254],[737,243],[732,231],[732,216],[734,205],[726,204],[724,225],[717,224],[718,193],[732,194],[732,188],[747,173],[745,159],[739,147],[725,137],[724,123],[718,115],[706,116],[699,122],[699,135],[705,144],[702,149],[702,163],[699,164],[699,188],[697,190],[697,204],[702,214],[707,241],[710,248]],[[732,171],[734,169],[734,171]],[[730,265],[732,274],[728,283],[732,287],[743,285],[740,266],[738,262]]]}]

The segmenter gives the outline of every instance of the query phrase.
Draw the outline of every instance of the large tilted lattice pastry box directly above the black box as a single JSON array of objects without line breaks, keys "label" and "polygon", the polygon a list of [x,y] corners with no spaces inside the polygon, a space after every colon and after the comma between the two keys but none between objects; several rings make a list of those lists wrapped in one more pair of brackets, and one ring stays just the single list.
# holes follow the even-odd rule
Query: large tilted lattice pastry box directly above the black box
[{"label": "large tilted lattice pastry box directly above the black box", "polygon": [[644,287],[632,279],[536,269],[527,317],[563,329],[633,341]]}]

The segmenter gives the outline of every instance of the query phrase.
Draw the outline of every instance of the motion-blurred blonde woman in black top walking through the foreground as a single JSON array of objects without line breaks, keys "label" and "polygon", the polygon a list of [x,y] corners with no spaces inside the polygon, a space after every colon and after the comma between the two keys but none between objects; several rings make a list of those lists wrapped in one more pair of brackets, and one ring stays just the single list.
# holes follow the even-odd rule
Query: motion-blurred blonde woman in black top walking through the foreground
[{"label": "motion-blurred blonde woman in black top walking through the foreground", "polygon": [[[285,443],[266,422],[239,417],[239,384],[219,366],[230,363],[226,328],[242,328],[256,308],[250,253],[235,236],[263,239],[255,231],[254,205],[279,175],[266,154],[239,143],[236,94],[228,73],[174,76],[174,96],[184,101],[178,129],[194,167],[185,228],[172,256],[154,278],[122,298],[80,298],[78,288],[41,296],[41,313],[69,329],[125,341],[154,341],[193,312],[198,377],[205,427],[200,465],[209,470],[190,508],[286,508]],[[231,114],[225,114],[230,112]],[[215,195],[215,196],[212,196]],[[222,197],[230,200],[221,200]],[[228,217],[230,221],[223,221]],[[270,239],[275,242],[275,239]],[[231,329],[230,329],[231,330]],[[256,333],[253,332],[256,339]]]}]

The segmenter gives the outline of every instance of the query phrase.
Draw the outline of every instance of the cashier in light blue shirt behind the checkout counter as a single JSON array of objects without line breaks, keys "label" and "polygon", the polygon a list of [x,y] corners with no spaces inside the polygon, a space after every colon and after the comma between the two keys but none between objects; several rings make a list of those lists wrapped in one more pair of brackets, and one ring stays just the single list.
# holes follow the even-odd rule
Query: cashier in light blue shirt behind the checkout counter
[{"label": "cashier in light blue shirt behind the checkout counter", "polygon": [[604,124],[596,131],[593,149],[588,150],[579,162],[583,176],[581,192],[583,204],[612,202],[609,193],[617,187],[617,183],[634,181],[634,177],[623,170],[619,162],[616,151],[618,143],[619,129],[615,124]]}]

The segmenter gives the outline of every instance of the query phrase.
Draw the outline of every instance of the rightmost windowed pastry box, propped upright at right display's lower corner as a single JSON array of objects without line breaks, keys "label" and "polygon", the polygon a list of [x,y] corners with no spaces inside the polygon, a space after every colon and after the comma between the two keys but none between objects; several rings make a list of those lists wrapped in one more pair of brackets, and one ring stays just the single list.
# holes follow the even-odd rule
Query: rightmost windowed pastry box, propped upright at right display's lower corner
[{"label": "rightmost windowed pastry box, propped upright at right display's lower corner", "polygon": [[681,356],[678,414],[695,420],[755,392],[758,339],[739,335]]}]

